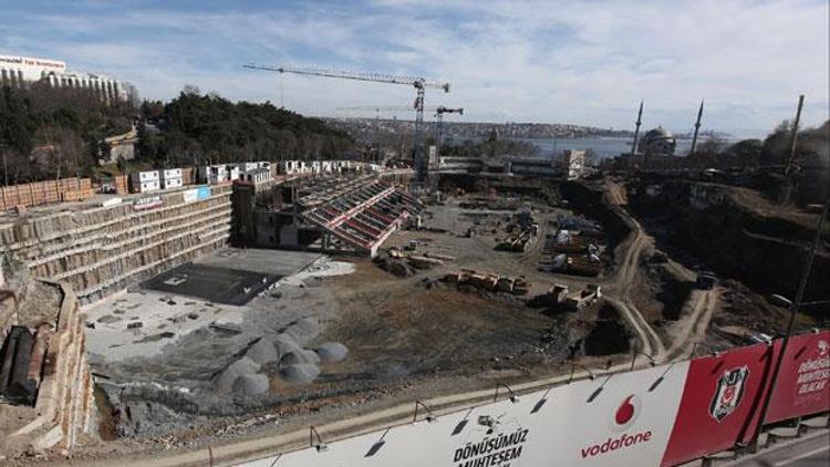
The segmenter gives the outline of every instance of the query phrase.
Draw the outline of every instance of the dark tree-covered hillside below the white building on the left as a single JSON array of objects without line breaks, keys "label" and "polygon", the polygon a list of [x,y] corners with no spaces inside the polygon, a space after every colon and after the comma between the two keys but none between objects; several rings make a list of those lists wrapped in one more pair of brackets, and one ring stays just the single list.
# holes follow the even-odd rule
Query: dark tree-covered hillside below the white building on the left
[{"label": "dark tree-covered hillside below the white building on the left", "polygon": [[105,103],[86,90],[35,83],[0,89],[0,183],[90,176],[107,158],[103,139],[133,125],[142,166],[344,158],[355,151],[346,133],[271,103],[235,103],[191,86],[167,103]]}]

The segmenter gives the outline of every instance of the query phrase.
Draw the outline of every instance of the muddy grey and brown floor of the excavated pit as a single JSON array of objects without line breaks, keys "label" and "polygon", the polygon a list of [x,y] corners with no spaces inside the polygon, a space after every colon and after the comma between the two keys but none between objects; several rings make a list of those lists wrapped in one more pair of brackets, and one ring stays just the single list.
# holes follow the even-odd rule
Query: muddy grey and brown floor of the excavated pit
[{"label": "muddy grey and brown floor of the excavated pit", "polygon": [[[529,297],[546,293],[554,282],[579,290],[587,281],[539,271],[539,239],[525,252],[497,251],[515,211],[459,205],[430,206],[426,229],[390,238],[391,248],[415,240],[415,255],[454,258],[406,278],[361,258],[338,259],[353,264],[351,273],[297,274],[313,255],[230,250],[200,262],[234,269],[239,261],[249,271],[283,278],[243,305],[133,290],[95,308],[87,314],[87,339],[90,362],[106,395],[98,395],[98,405],[111,414],[102,419],[103,432],[136,439],[173,433],[198,437],[260,412],[294,413],[304,403],[365,402],[401,387],[424,394],[487,387],[494,380],[554,372],[568,359],[627,352],[630,335],[613,310],[600,316],[601,305],[577,313],[528,307]],[[522,207],[533,211],[540,238],[556,231],[552,220],[567,212],[533,203]],[[479,235],[467,238],[471,226]],[[526,276],[530,293],[483,293],[439,281],[461,268]],[[308,350],[341,343],[349,351],[345,360],[317,364],[319,375],[303,384],[287,380],[284,362],[266,363],[253,370],[267,377],[264,393],[252,395],[236,385],[229,393],[217,390],[222,372],[259,340],[305,319],[314,321],[315,332],[298,343]],[[142,326],[129,329],[136,322]]]}]

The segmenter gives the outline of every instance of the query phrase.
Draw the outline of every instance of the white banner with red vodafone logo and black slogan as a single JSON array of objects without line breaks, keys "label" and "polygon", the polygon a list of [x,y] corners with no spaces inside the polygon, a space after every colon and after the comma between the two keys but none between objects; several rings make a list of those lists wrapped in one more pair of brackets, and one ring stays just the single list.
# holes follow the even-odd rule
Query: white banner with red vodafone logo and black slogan
[{"label": "white banner with red vodafone logo and black slogan", "polygon": [[[660,465],[688,362],[579,381],[248,466]],[[506,397],[506,395],[505,395]],[[500,396],[501,398],[501,396]],[[424,414],[426,415],[426,414]],[[325,433],[321,434],[323,438]],[[325,440],[325,439],[323,439]]]}]

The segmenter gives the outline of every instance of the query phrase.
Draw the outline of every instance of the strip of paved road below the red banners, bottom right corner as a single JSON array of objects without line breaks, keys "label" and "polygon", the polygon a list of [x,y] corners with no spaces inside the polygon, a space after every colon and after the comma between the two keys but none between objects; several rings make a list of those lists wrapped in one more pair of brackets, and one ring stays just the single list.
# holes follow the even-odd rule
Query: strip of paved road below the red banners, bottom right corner
[{"label": "strip of paved road below the red banners, bottom right corner", "polygon": [[779,443],[750,458],[723,467],[827,467],[830,465],[830,433],[821,430],[801,439]]}]

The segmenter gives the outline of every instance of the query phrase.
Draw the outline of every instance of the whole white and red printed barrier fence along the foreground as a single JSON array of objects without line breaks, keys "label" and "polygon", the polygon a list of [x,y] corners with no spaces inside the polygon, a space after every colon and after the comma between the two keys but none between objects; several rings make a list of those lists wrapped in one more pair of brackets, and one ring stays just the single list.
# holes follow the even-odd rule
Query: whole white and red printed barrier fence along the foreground
[{"label": "whole white and red printed barrier fence along the foreground", "polygon": [[[676,466],[751,442],[781,341],[599,375],[245,465]],[[765,423],[830,411],[830,331],[790,340]]]}]

